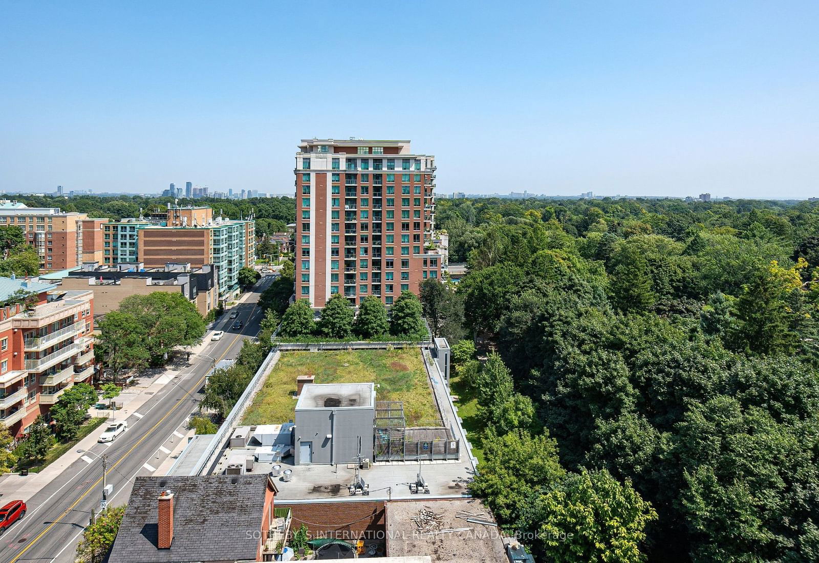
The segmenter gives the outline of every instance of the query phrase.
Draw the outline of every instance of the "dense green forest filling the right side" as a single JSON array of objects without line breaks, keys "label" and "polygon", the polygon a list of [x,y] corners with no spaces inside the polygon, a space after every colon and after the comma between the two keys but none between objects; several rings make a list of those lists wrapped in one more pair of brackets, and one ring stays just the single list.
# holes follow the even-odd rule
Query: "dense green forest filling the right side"
[{"label": "dense green forest filling the right side", "polygon": [[819,561],[817,205],[441,200],[437,227],[469,273],[424,308],[498,352],[454,349],[473,490],[538,561]]}]

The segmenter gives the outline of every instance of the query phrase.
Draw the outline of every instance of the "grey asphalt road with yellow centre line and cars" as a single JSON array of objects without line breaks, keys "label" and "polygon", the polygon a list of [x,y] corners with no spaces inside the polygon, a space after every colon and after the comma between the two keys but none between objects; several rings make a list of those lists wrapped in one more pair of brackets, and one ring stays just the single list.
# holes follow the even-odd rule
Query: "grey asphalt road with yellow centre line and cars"
[{"label": "grey asphalt road with yellow centre line and cars", "polygon": [[[263,277],[253,295],[233,308],[244,326],[233,330],[230,328],[233,321],[229,322],[222,340],[211,342],[204,350],[203,354],[210,358],[192,356],[187,370],[126,419],[128,430],[123,435],[109,444],[95,444],[91,453],[84,454],[92,462],[80,458],[67,467],[59,479],[29,499],[25,518],[0,536],[0,561],[74,561],[79,536],[88,525],[91,511],[99,511],[102,499],[102,462],[97,457],[103,453],[107,457],[106,483],[114,487],[108,497],[109,505],[125,504],[133,478],[152,475],[167,459],[174,443],[179,445],[182,437],[179,430],[184,429],[188,417],[197,410],[206,373],[213,365],[212,358],[217,361],[235,358],[242,348],[242,340],[258,333],[262,314],[256,301],[271,281],[272,276]],[[100,426],[98,431],[102,430]]]}]

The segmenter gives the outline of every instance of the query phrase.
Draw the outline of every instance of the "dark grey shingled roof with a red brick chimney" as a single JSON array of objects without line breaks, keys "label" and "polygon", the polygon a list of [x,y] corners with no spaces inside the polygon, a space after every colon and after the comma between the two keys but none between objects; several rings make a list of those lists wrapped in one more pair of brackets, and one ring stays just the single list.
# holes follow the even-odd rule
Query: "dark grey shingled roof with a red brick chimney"
[{"label": "dark grey shingled roof with a red brick chimney", "polygon": [[[256,561],[267,475],[137,477],[109,561]],[[157,498],[174,493],[174,541],[157,549]]]}]

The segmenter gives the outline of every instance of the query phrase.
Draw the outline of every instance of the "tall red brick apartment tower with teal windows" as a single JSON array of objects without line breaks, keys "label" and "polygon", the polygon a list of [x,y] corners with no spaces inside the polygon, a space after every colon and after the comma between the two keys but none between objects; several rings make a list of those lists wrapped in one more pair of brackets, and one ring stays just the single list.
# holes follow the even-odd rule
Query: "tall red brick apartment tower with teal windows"
[{"label": "tall red brick apartment tower with teal windows", "polygon": [[409,141],[303,139],[296,152],[296,299],[353,304],[440,277],[433,250],[435,157]]}]

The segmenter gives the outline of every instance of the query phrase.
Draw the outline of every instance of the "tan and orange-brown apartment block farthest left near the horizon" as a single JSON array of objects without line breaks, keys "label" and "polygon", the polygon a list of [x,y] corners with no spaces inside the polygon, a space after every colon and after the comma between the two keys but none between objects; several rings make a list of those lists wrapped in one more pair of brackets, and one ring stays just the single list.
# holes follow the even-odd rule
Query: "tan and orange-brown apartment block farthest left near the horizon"
[{"label": "tan and orange-brown apartment block farthest left near the horizon", "polygon": [[102,259],[102,225],[107,221],[58,207],[0,201],[0,226],[22,229],[24,240],[37,250],[41,270],[76,268]]}]

